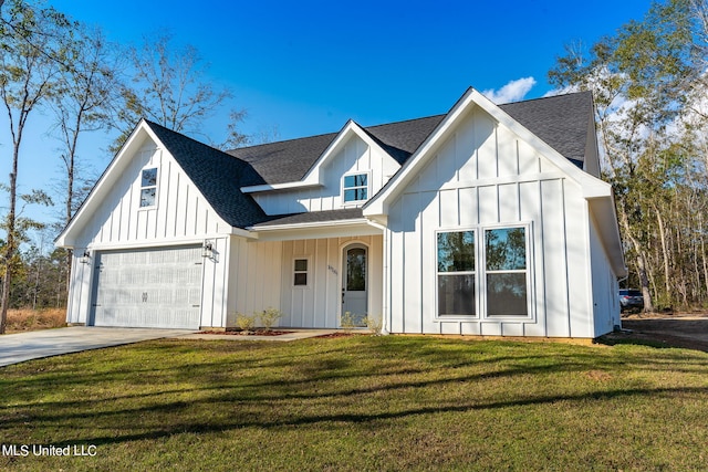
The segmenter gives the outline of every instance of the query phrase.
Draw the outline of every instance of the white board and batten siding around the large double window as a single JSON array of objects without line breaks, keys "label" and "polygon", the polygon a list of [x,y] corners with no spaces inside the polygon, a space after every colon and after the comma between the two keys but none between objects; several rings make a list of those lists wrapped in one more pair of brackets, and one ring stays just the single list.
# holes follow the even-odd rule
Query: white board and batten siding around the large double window
[{"label": "white board and batten siding around the large double window", "polygon": [[[581,188],[480,108],[452,132],[389,207],[389,331],[593,337]],[[437,318],[436,231],[475,229],[483,244],[485,228],[519,224],[528,228],[529,318]]]}]

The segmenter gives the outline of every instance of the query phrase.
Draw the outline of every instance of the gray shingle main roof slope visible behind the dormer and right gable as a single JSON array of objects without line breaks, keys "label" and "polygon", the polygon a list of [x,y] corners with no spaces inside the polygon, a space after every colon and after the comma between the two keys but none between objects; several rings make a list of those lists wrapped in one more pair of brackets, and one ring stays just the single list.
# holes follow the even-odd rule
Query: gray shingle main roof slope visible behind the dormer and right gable
[{"label": "gray shingle main roof slope visible behind the dormer and right gable", "polygon": [[[592,117],[592,94],[581,92],[500,105],[500,108],[568,159],[582,162]],[[446,115],[365,127],[398,164],[408,157]],[[267,183],[301,180],[337,133],[232,149],[228,154],[249,162]],[[258,183],[253,183],[258,185]]]}]

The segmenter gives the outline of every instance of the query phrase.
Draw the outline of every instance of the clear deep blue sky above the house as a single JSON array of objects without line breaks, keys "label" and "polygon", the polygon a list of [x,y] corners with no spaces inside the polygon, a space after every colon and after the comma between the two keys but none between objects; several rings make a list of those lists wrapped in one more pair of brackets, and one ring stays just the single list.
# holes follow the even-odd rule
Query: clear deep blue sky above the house
[{"label": "clear deep blue sky above the house", "polygon": [[[516,84],[511,95],[496,96],[500,103],[540,97],[551,90],[546,73],[564,44],[590,46],[649,7],[636,0],[49,3],[101,27],[114,42],[137,44],[169,31],[177,45],[196,46],[210,64],[208,78],[235,95],[196,136],[217,143],[230,107],[248,111],[243,132],[275,127],[289,139],[339,130],[348,118],[368,126],[445,113],[468,86],[492,94]],[[19,171],[25,191],[59,178],[59,144],[45,130],[46,118],[35,116]],[[111,159],[102,150],[110,140],[97,133],[80,149],[98,172]],[[8,143],[0,117],[2,176]]]}]

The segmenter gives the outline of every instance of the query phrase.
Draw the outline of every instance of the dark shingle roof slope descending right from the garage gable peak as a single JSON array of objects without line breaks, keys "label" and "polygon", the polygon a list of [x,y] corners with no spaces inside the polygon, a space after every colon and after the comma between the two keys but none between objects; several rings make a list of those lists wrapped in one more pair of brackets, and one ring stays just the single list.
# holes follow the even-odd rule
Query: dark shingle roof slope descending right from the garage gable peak
[{"label": "dark shingle roof slope descending right from the garage gable peak", "polygon": [[156,123],[145,123],[227,223],[246,228],[269,219],[253,198],[240,190],[262,181],[250,165]]}]

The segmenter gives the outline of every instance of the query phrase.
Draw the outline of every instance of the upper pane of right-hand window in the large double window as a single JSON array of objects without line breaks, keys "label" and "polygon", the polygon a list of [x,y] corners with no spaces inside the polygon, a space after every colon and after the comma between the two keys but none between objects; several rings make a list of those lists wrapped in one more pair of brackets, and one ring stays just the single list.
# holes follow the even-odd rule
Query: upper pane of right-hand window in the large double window
[{"label": "upper pane of right-hand window in the large double window", "polygon": [[522,271],[527,268],[525,228],[488,230],[485,243],[488,271]]}]

